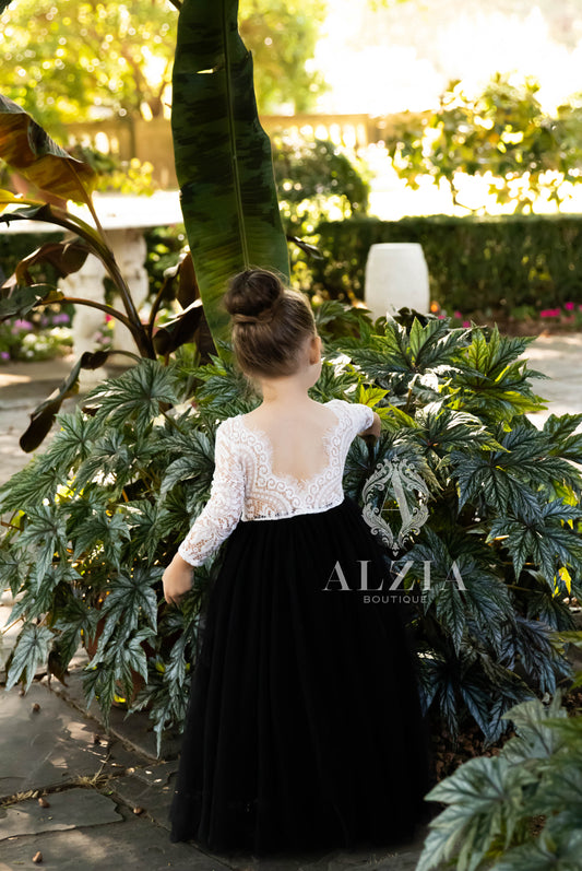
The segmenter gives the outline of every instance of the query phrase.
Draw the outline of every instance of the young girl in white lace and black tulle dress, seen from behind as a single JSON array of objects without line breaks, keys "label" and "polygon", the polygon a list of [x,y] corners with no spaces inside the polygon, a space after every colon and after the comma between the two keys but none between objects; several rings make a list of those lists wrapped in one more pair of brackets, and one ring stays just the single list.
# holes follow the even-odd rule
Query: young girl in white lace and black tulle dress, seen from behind
[{"label": "young girl in white lace and black tulle dress, seen from behind", "polygon": [[[308,390],[321,340],[264,270],[225,296],[262,403],[216,431],[211,498],[164,574],[179,602],[228,538],[192,676],[171,839],[256,855],[412,837],[429,788],[413,656],[379,544],[342,475],[370,408]],[[366,601],[368,598],[368,601]],[[384,597],[387,598],[387,597]]]}]

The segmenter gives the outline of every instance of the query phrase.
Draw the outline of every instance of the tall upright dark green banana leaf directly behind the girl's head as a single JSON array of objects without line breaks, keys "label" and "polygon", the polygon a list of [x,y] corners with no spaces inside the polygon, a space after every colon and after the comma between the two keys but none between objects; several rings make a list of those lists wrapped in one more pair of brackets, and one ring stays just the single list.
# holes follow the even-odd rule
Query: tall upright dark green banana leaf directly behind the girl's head
[{"label": "tall upright dark green banana leaf directly behind the girl's head", "polygon": [[254,266],[289,276],[271,144],[237,13],[238,0],[185,0],[174,64],[176,174],[214,340],[227,336],[219,301],[230,275]]}]

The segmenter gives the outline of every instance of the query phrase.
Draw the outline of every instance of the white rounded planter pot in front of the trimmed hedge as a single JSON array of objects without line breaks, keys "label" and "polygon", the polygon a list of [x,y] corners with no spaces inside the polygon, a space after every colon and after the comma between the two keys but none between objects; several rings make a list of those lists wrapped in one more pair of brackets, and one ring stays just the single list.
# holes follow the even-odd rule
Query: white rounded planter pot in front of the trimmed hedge
[{"label": "white rounded planter pot in front of the trimmed hedge", "polygon": [[364,298],[375,318],[394,315],[403,306],[428,313],[428,269],[421,246],[416,242],[372,245]]}]

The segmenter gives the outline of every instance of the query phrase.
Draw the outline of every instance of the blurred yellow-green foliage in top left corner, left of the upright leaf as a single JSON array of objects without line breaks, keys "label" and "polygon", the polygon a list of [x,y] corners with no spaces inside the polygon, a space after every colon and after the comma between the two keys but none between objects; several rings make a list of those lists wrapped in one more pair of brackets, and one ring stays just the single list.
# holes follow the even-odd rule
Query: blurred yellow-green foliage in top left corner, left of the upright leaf
[{"label": "blurred yellow-green foliage in top left corner, left of the upright leaf", "polygon": [[176,47],[169,2],[23,0],[1,19],[0,87],[44,123],[159,117]]}]

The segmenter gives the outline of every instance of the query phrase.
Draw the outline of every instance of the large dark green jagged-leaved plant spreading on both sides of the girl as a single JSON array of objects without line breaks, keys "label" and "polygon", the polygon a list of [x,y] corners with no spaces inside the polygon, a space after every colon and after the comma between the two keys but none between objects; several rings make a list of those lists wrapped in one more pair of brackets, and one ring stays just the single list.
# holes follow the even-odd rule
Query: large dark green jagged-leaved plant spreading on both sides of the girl
[{"label": "large dark green jagged-leaved plant spreading on both sides of the girl", "polygon": [[[346,492],[361,501],[378,463],[394,458],[430,491],[429,519],[390,554],[396,568],[413,562],[402,581],[411,597],[431,563],[431,589],[413,617],[424,705],[438,728],[454,734],[471,718],[494,740],[515,701],[554,692],[569,673],[550,633],[570,626],[565,600],[582,591],[572,462],[582,415],[551,415],[543,431],[527,421],[542,405],[530,386],[536,373],[515,360],[528,340],[406,311],[372,328],[334,301],[316,317],[326,361],[313,398],[364,401],[383,421],[376,445],[353,444]],[[142,361],[59,416],[49,449],[0,493],[2,511],[14,511],[0,580],[23,593],[12,619],[25,620],[10,684],[29,684],[47,657],[62,678],[99,624],[87,698],[105,711],[116,694],[133,699],[136,672],[147,683],[133,707],[149,707],[158,735],[180,721],[222,552],[194,574],[183,611],[164,603],[159,576],[207,498],[217,423],[257,402],[230,363],[197,367],[183,346],[167,366]],[[392,522],[393,485],[383,498]],[[453,564],[465,590],[450,582]]]}]

